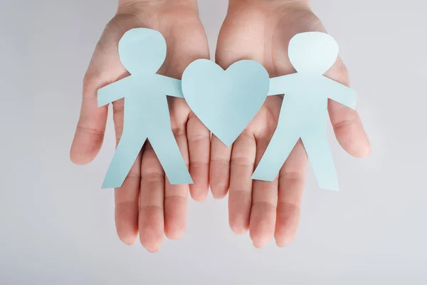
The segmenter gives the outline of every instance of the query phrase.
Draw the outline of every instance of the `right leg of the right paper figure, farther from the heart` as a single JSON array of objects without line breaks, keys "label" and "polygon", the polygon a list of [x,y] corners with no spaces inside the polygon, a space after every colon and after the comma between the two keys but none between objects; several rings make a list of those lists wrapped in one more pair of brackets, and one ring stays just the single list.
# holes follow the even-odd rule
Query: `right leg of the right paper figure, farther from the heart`
[{"label": "right leg of the right paper figure, farther from the heart", "polygon": [[[323,128],[323,130],[325,130]],[[335,171],[332,152],[327,141],[326,133],[302,137],[305,151],[319,187],[325,190],[339,190],[337,172]]]}]

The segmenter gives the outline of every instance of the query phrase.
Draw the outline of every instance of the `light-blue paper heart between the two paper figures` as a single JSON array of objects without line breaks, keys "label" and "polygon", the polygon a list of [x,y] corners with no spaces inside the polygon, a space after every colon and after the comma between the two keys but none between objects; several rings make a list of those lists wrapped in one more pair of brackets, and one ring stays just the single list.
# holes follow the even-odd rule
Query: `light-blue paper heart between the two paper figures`
[{"label": "light-blue paper heart between the two paper figures", "polygon": [[182,75],[182,93],[206,128],[229,147],[267,97],[269,76],[256,61],[237,61],[226,71],[198,59]]}]

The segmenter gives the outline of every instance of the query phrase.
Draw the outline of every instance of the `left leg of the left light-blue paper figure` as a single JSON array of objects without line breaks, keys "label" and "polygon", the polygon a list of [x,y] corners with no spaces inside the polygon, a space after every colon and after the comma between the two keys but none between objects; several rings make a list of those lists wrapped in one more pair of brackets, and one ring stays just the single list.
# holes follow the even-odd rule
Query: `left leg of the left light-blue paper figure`
[{"label": "left leg of the left light-blue paper figure", "polygon": [[107,175],[105,175],[104,182],[102,183],[102,188],[116,188],[122,186],[146,140],[143,136],[135,135],[139,132],[140,130],[127,129],[123,132],[114,157],[112,157],[110,167],[108,167]]}]

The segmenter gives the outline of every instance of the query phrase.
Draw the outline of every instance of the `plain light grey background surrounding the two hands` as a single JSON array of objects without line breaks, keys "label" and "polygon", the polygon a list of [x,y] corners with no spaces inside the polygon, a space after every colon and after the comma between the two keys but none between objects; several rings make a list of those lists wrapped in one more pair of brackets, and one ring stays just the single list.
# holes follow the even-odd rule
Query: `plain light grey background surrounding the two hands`
[{"label": "plain light grey background surrounding the two hands", "polygon": [[[116,1],[0,3],[0,284],[427,284],[427,6],[312,1],[359,91],[372,155],[350,157],[328,127],[342,190],[309,169],[290,246],[255,249],[228,228],[227,201],[190,202],[179,242],[157,254],[116,237],[109,118],[94,162],[68,159],[82,78]],[[226,0],[200,0],[214,54]]]}]

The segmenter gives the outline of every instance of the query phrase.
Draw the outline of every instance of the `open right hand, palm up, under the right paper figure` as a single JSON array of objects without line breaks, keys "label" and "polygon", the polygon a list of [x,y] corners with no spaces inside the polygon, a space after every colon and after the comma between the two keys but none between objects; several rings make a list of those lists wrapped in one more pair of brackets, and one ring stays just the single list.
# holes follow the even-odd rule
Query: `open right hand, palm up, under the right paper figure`
[{"label": "open right hand, palm up, under the right paper figure", "polygon": [[[312,13],[309,1],[231,0],[218,36],[216,62],[223,68],[241,59],[253,59],[267,68],[270,77],[295,73],[288,59],[288,43],[296,33],[325,32]],[[326,73],[349,85],[340,59]],[[210,183],[214,197],[228,188],[229,222],[236,234],[248,229],[255,247],[263,247],[274,235],[283,247],[295,236],[300,218],[307,155],[297,142],[274,182],[251,180],[278,123],[280,96],[269,96],[248,128],[227,148],[211,141]],[[369,155],[370,145],[355,110],[332,100],[328,103],[334,133],[340,145],[355,157]]]}]

